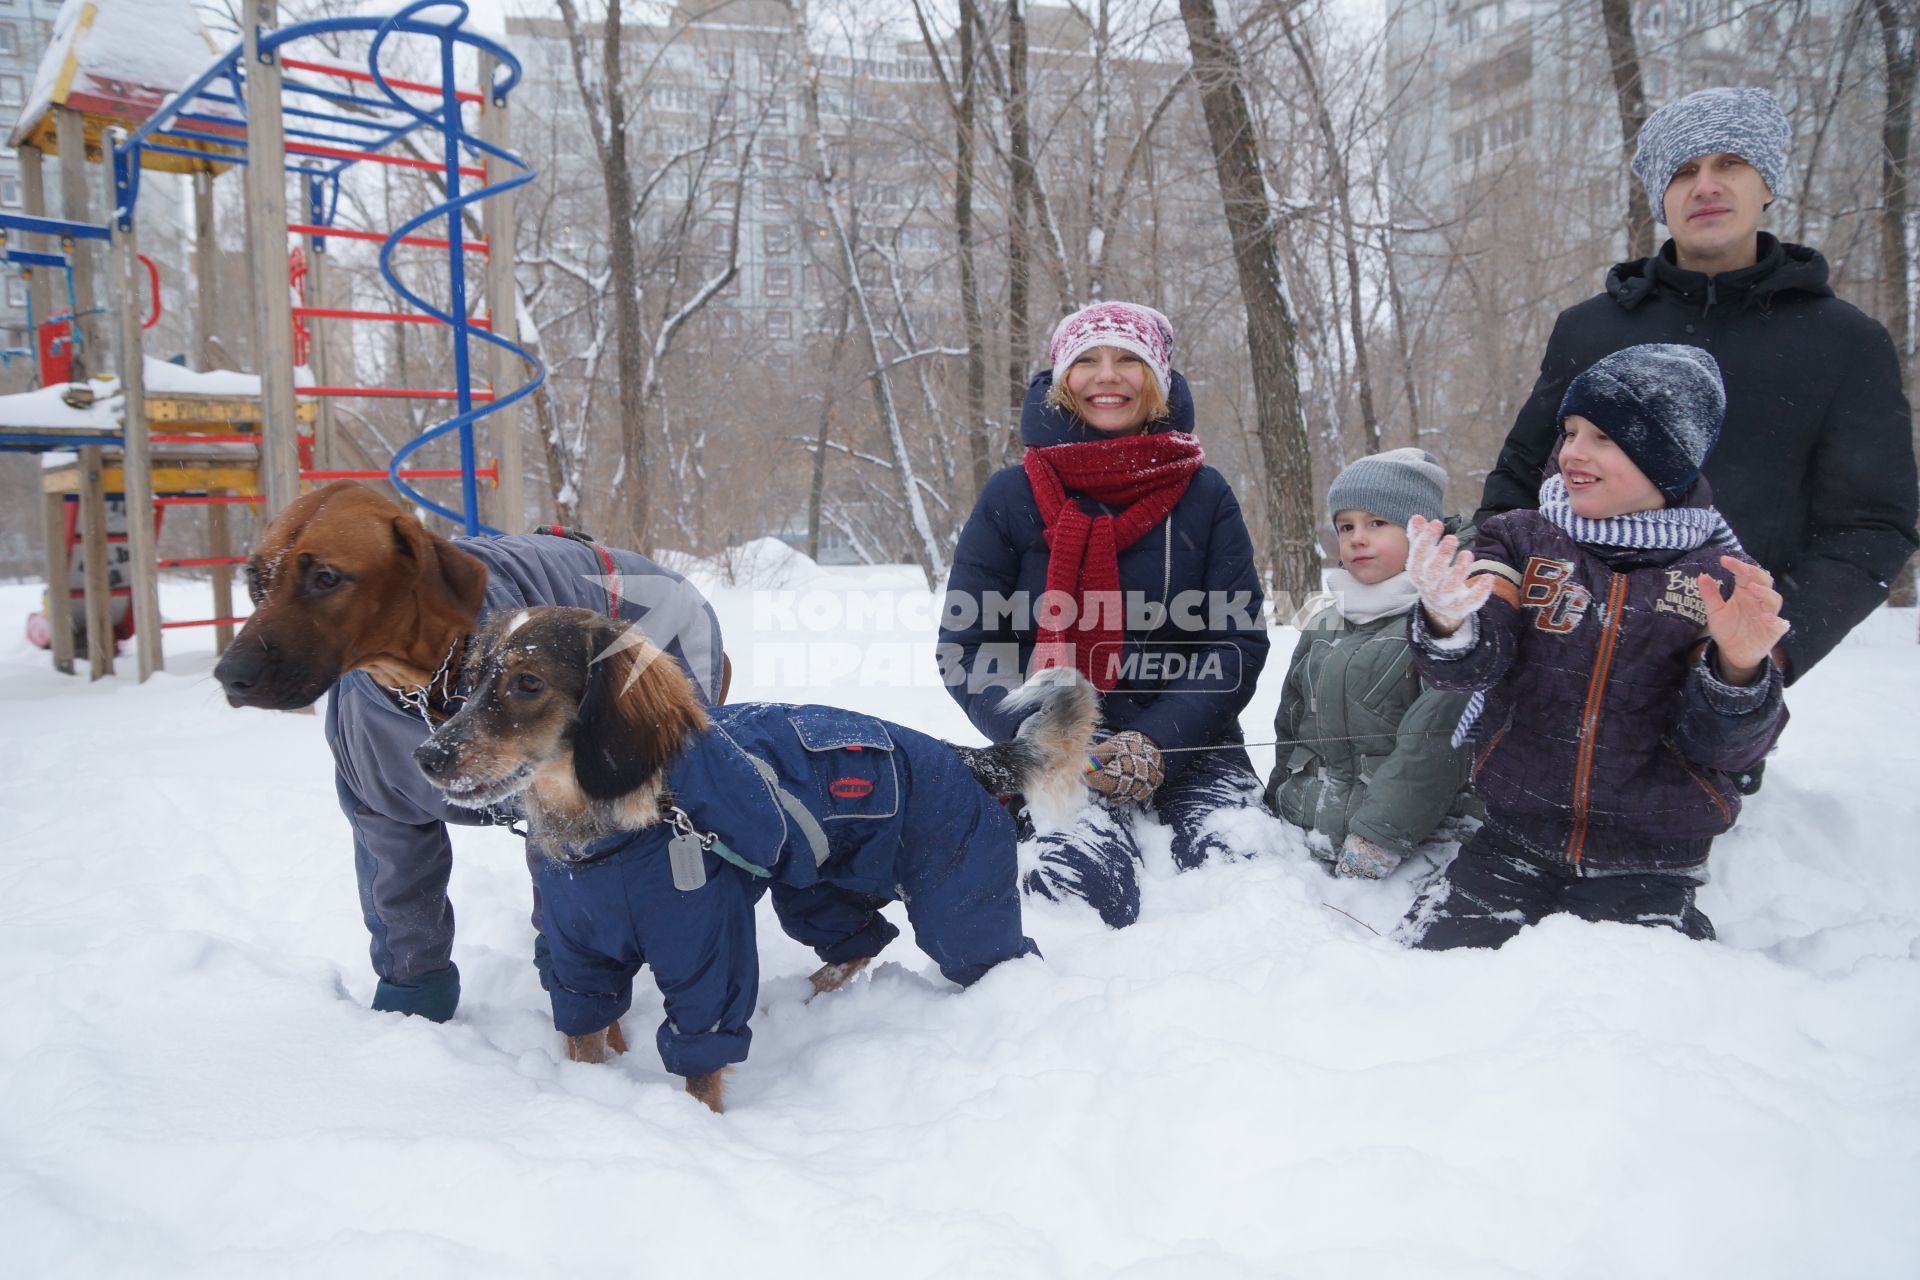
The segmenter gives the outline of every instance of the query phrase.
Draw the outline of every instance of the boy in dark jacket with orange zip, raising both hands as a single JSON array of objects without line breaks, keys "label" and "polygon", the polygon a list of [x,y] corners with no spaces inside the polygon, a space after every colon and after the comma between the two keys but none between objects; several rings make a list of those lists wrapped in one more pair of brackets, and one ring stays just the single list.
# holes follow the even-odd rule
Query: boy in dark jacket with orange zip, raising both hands
[{"label": "boy in dark jacket with orange zip, raising both hands", "polygon": [[1697,347],[1617,351],[1567,388],[1540,510],[1471,553],[1409,524],[1413,664],[1475,693],[1486,825],[1402,925],[1427,950],[1501,946],[1555,912],[1711,938],[1693,904],[1734,773],[1786,725],[1772,576],[1740,549],[1699,468],[1726,390]]}]

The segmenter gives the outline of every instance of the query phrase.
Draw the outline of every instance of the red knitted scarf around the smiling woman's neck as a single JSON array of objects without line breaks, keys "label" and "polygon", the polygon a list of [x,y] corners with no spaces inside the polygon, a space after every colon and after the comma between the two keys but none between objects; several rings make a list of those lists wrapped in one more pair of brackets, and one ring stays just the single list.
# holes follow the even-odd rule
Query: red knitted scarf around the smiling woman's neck
[{"label": "red knitted scarf around the smiling woman's neck", "polygon": [[[1125,643],[1119,553],[1167,518],[1204,461],[1200,441],[1181,432],[1027,449],[1027,482],[1046,524],[1046,591],[1075,604],[1062,626],[1066,618],[1035,603],[1033,670],[1077,666],[1094,689],[1114,687]],[[1121,512],[1089,516],[1075,497]]]}]

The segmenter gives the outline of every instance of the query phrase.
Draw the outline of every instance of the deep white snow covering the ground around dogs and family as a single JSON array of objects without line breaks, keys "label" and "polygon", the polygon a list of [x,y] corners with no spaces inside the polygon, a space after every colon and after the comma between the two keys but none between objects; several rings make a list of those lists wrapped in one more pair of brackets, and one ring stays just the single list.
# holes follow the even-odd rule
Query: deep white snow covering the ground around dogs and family
[{"label": "deep white snow covering the ground around dogs and family", "polygon": [[[735,697],[973,741],[933,683],[916,572],[797,564],[783,589],[714,587]],[[207,608],[192,585],[161,603]],[[1793,689],[1715,852],[1718,944],[1549,921],[1407,954],[1369,925],[1415,867],[1336,885],[1250,821],[1242,864],[1175,877],[1152,844],[1125,933],[1031,908],[1046,958],[968,992],[902,938],[803,1004],[810,956],[762,913],[753,1057],[714,1117],[660,1071],[645,988],[636,1052],[564,1061],[507,833],[455,835],[459,1017],[369,1013],[319,718],[228,710],[198,631],[167,633],[148,685],[60,677],[19,639],[35,606],[0,587],[8,1274],[1920,1267],[1912,612]]]}]

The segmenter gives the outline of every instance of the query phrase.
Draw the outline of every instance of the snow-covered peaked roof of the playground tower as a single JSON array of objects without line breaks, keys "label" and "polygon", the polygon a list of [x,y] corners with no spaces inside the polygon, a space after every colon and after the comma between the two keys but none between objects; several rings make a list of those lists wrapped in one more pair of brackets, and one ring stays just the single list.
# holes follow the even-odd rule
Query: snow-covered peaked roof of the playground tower
[{"label": "snow-covered peaked roof of the playground tower", "polygon": [[[8,142],[58,152],[50,107],[63,106],[86,117],[86,150],[94,152],[104,125],[140,125],[219,52],[192,0],[65,0]],[[146,161],[192,163],[159,154]]]}]

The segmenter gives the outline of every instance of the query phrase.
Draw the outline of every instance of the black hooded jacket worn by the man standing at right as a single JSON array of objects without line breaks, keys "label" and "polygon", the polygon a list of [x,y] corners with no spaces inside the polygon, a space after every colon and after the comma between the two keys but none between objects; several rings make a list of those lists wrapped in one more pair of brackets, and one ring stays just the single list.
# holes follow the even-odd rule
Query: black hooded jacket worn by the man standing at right
[{"label": "black hooded jacket worn by the man standing at right", "polygon": [[1793,679],[1885,599],[1916,547],[1912,413],[1893,342],[1834,297],[1816,249],[1764,232],[1753,267],[1711,278],[1674,265],[1672,242],[1619,263],[1605,294],[1553,324],[1476,524],[1538,507],[1567,384],[1642,342],[1703,347],[1720,363],[1726,426],[1705,474],[1747,555],[1786,599]]}]

